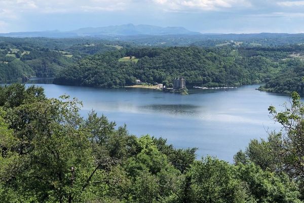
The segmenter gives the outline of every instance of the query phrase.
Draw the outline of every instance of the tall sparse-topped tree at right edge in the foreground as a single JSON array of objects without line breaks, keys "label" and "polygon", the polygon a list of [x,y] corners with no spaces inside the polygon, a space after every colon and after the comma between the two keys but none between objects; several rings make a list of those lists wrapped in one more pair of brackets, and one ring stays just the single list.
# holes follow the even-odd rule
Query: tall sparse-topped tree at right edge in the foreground
[{"label": "tall sparse-topped tree at right edge in the foreground", "polygon": [[304,199],[304,104],[298,93],[291,94],[290,104],[278,112],[269,107],[276,122],[282,125],[279,133],[272,132],[267,141],[252,140],[245,152],[235,155],[235,162],[254,162],[263,170],[286,173],[299,184]]}]

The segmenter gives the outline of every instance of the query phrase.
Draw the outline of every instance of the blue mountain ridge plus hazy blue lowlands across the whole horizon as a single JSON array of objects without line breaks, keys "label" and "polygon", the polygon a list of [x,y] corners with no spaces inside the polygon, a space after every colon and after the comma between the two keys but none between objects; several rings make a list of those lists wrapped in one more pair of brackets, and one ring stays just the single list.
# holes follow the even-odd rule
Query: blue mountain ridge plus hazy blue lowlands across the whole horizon
[{"label": "blue mountain ridge plus hazy blue lowlands across the whole horizon", "polygon": [[160,27],[133,24],[85,27],[71,31],[10,32],[0,33],[0,37],[99,38],[111,41],[119,40],[134,42],[141,45],[163,46],[215,46],[216,44],[231,44],[235,41],[253,43],[255,45],[304,44],[304,33],[200,33],[187,30],[184,27]]}]

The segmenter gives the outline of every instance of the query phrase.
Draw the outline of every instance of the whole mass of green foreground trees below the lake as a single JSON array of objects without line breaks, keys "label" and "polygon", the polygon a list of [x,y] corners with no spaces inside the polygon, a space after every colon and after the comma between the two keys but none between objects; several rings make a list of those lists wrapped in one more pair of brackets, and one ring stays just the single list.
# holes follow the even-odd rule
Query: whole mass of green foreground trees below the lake
[{"label": "whole mass of green foreground trees below the lake", "polygon": [[[1,202],[254,202],[304,200],[304,104],[269,111],[282,124],[235,163],[135,137],[81,102],[41,87],[0,87]],[[198,146],[199,147],[199,146]]]}]

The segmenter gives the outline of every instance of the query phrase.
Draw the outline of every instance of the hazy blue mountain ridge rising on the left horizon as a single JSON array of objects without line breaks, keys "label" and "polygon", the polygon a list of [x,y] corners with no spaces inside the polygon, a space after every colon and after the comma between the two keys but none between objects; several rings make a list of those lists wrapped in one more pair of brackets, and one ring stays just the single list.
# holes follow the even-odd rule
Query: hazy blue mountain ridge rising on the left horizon
[{"label": "hazy blue mountain ridge rising on the left horizon", "polygon": [[106,27],[85,27],[72,31],[34,31],[0,33],[2,37],[103,37],[103,36],[163,36],[163,35],[201,35],[200,32],[189,31],[184,27],[159,27],[154,25],[115,25]]}]

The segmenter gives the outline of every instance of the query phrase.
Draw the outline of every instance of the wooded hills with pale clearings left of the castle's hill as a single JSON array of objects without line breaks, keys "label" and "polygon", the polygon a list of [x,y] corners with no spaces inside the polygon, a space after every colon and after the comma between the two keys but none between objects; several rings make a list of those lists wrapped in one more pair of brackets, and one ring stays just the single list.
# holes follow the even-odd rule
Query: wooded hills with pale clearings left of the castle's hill
[{"label": "wooded hills with pale clearings left of the castle's hill", "polygon": [[121,49],[119,45],[130,46],[97,39],[0,37],[0,82],[55,77],[82,57]]}]

